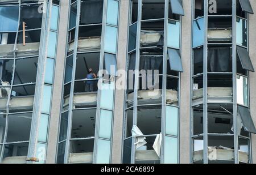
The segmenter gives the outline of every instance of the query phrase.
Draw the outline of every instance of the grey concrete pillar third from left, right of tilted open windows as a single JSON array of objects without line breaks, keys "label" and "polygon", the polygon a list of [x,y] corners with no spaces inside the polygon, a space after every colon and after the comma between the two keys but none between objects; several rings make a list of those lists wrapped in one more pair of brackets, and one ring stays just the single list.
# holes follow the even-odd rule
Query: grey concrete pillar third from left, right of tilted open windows
[{"label": "grey concrete pillar third from left, right of tilted open windows", "polygon": [[184,72],[180,87],[180,163],[189,163],[190,84],[191,84],[191,10],[192,1],[183,1],[185,16],[182,18],[181,59]]}]

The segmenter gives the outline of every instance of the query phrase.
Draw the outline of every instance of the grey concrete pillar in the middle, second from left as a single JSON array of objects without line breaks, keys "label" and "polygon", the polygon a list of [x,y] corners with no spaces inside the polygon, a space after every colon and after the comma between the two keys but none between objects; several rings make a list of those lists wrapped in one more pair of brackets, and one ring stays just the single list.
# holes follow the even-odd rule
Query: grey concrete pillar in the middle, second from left
[{"label": "grey concrete pillar in the middle, second from left", "polygon": [[[126,70],[127,55],[127,31],[129,19],[129,1],[120,1],[119,14],[119,33],[118,33],[118,51],[117,51],[117,67]],[[121,77],[120,77],[121,78]],[[117,78],[120,80],[120,78]],[[123,80],[125,83],[125,80]],[[115,91],[114,106],[114,127],[113,127],[113,147],[112,147],[112,163],[121,163],[122,157],[122,133],[123,133],[123,108],[124,108],[124,90]]]}]

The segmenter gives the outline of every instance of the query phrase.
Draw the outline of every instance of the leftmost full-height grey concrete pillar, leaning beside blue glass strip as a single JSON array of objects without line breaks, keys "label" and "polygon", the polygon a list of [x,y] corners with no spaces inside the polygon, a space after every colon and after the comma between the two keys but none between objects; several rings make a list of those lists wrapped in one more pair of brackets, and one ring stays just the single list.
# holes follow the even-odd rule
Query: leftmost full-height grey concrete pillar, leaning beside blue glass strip
[{"label": "leftmost full-height grey concrete pillar, leaning beside blue glass strip", "polygon": [[57,54],[55,59],[55,75],[53,82],[52,108],[49,121],[48,147],[46,163],[55,163],[57,135],[59,131],[59,118],[61,106],[61,91],[63,87],[65,48],[67,41],[69,1],[60,1],[59,35],[57,41]]}]

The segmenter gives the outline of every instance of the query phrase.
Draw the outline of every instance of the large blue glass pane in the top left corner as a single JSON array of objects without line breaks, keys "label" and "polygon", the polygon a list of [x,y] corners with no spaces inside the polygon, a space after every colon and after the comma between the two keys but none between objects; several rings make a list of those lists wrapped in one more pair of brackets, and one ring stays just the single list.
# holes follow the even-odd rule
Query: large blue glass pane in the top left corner
[{"label": "large blue glass pane in the top left corner", "polygon": [[0,32],[18,29],[19,6],[0,7]]}]

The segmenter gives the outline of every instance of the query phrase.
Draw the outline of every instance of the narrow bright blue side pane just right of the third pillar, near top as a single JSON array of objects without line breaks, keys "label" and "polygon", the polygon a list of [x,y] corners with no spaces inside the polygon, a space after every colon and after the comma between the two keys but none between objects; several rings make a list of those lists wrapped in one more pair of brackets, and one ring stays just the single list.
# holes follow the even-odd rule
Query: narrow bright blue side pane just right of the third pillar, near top
[{"label": "narrow bright blue side pane just right of the third pillar, near top", "polygon": [[204,18],[193,22],[193,48],[204,45]]}]

